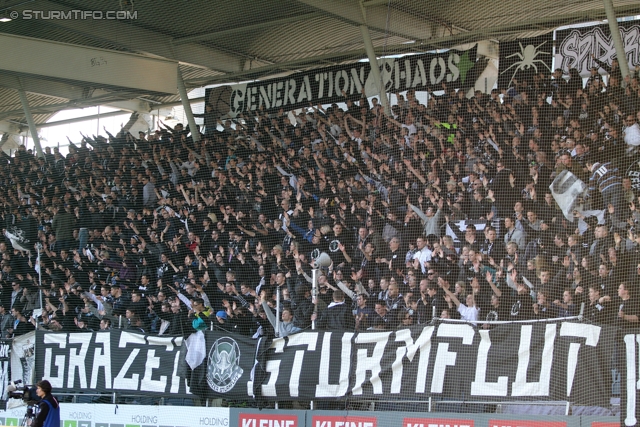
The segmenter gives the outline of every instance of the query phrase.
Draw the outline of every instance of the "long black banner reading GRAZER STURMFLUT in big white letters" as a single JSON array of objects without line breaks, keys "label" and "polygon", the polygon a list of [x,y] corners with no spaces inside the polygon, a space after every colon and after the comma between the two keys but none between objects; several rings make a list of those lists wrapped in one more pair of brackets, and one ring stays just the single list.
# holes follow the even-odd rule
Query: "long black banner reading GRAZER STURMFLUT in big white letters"
[{"label": "long black banner reading GRAZER STURMFLUT in big white letters", "polygon": [[[569,400],[608,406],[616,329],[584,323],[462,323],[399,331],[308,331],[269,341],[206,331],[182,372],[182,338],[37,332],[36,377],[58,392],[247,400]],[[194,346],[194,348],[197,346]],[[193,359],[191,359],[193,360]],[[186,388],[189,380],[190,390]]]}]

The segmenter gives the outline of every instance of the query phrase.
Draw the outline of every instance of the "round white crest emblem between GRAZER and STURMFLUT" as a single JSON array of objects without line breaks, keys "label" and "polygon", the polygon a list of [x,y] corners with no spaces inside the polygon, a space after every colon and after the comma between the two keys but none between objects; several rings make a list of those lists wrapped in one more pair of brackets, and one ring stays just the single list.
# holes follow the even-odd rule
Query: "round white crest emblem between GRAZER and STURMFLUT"
[{"label": "round white crest emblem between GRAZER and STURMFLUT", "polygon": [[233,389],[244,370],[240,367],[240,347],[229,337],[218,338],[209,351],[207,383],[217,393]]}]

